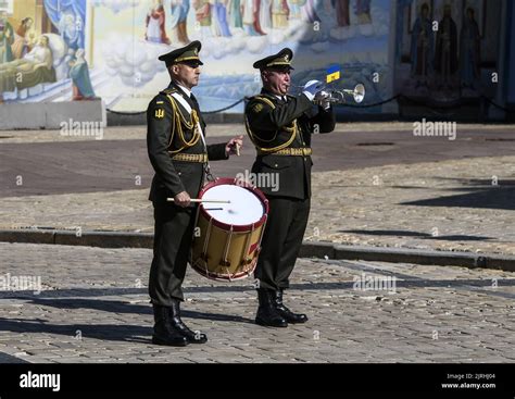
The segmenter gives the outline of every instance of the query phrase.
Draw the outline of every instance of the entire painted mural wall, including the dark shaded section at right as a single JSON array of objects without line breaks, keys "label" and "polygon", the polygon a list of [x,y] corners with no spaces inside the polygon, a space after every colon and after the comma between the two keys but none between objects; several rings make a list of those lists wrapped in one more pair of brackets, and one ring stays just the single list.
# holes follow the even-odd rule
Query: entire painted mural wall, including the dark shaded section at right
[{"label": "entire painted mural wall, including the dark shaded section at right", "polygon": [[293,91],[337,64],[330,85],[364,84],[367,104],[397,93],[513,102],[513,77],[492,82],[501,46],[514,46],[503,8],[513,10],[505,0],[0,0],[0,102],[101,98],[145,111],[168,84],[158,57],[196,39],[204,111],[256,93],[252,63],[284,47],[294,51]]}]

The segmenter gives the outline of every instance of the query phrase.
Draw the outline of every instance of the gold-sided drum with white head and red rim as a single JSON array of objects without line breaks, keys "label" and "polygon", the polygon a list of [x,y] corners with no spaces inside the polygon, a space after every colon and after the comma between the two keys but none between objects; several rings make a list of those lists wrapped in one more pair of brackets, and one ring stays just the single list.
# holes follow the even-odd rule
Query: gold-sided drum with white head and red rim
[{"label": "gold-sided drum with white head and red rim", "polygon": [[268,215],[268,200],[252,185],[217,178],[204,186],[192,248],[192,267],[201,275],[230,282],[247,277],[258,263]]}]

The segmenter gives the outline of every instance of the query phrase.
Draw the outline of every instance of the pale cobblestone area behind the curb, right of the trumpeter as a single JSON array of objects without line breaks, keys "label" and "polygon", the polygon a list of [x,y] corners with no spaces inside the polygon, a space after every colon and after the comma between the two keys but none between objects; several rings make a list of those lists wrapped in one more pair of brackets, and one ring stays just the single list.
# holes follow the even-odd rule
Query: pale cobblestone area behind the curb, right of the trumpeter
[{"label": "pale cobblestone area behind the curb, right of the trumpeter", "polygon": [[515,254],[515,157],[331,171],[316,180],[311,239]]}]

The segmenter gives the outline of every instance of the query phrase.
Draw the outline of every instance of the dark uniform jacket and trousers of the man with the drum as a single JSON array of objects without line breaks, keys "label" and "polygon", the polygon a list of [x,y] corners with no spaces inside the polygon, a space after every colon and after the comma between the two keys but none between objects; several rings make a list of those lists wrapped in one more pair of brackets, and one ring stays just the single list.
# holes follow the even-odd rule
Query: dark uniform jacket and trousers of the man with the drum
[{"label": "dark uniform jacket and trousers of the man with the drum", "polygon": [[[175,96],[191,108],[191,114]],[[204,148],[197,122],[205,133],[199,105],[180,87],[172,83],[149,104],[147,111],[147,147],[155,171],[149,199],[154,205],[154,246],[150,269],[149,295],[153,304],[172,307],[184,300],[183,282],[190,260],[197,207],[181,208],[166,198],[187,191],[198,198],[204,182],[205,163],[185,161],[188,157],[223,160],[225,144]],[[174,158],[183,157],[183,160]]]}]

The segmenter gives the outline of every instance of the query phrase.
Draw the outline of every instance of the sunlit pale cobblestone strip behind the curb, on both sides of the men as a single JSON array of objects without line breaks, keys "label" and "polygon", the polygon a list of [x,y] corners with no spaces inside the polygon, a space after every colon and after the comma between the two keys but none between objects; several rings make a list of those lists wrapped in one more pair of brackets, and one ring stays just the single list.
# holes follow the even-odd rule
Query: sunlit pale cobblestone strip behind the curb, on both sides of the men
[{"label": "sunlit pale cobblestone strip behind the curb, on both sides of the men", "polygon": [[[515,254],[515,157],[315,172],[305,239]],[[148,189],[2,198],[0,228],[152,232]]]}]

